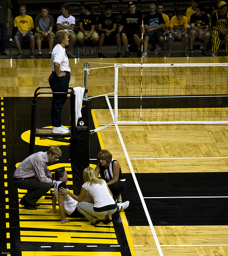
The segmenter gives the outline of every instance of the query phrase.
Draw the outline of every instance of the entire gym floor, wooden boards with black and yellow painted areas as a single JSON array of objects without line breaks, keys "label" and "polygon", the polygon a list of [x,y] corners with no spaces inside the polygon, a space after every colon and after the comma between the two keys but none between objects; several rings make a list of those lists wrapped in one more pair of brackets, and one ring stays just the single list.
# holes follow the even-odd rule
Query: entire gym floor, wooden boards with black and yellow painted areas
[{"label": "entire gym floor, wooden boards with black and yellow painted areas", "polygon": [[[144,62],[227,62],[227,57],[147,58]],[[83,86],[83,66],[140,63],[140,58],[70,59],[70,86]],[[91,63],[93,62],[93,63]],[[100,64],[105,63],[105,64]],[[90,71],[89,96],[113,92],[110,68]],[[49,59],[1,59],[1,201],[0,253],[8,255],[228,255],[226,125],[119,125],[91,136],[91,164],[99,148],[107,148],[128,181],[123,201],[130,206],[113,216],[109,226],[91,228],[85,219],[59,224],[59,212],[47,216],[51,202],[28,211],[18,205],[26,191],[12,182],[15,165],[28,156],[32,96],[48,85]],[[49,126],[50,98],[43,97],[40,125]],[[69,108],[66,103],[65,110]],[[112,122],[108,106],[92,101],[95,127]],[[64,124],[69,121],[64,117]],[[60,145],[56,166],[69,175],[68,139],[36,140],[36,151]],[[70,176],[71,178],[71,176]],[[72,181],[69,179],[69,185]]]}]

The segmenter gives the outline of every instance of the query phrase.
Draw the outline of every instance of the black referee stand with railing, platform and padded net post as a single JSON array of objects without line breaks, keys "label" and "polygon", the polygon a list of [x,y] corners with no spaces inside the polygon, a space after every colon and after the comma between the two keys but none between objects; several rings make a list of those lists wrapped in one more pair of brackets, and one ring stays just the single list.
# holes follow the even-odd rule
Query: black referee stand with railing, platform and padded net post
[{"label": "black referee stand with railing, platform and padded net post", "polygon": [[73,177],[74,194],[79,195],[81,186],[83,185],[83,170],[89,166],[89,136],[90,136],[90,112],[91,101],[83,100],[83,108],[81,110],[82,117],[78,119],[75,125],[75,94],[73,88],[69,88],[69,92],[57,94],[70,95],[70,132],[69,134],[53,134],[52,128],[36,128],[37,119],[37,97],[41,94],[56,94],[55,92],[38,92],[40,89],[50,89],[50,87],[39,87],[35,90],[32,102],[32,115],[30,126],[30,148],[29,155],[35,153],[35,138],[65,138],[70,137],[70,163]]}]

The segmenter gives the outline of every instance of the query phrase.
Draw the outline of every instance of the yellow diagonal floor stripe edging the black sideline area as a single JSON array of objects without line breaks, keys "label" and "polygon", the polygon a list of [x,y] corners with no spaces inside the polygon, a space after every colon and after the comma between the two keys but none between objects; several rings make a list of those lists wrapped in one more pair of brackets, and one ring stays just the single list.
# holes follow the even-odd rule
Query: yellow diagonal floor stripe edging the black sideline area
[{"label": "yellow diagonal floor stripe edging the black sideline area", "polygon": [[[91,114],[92,114],[95,129],[96,129],[99,126],[98,126],[98,123],[97,123],[97,120],[96,120],[96,115],[95,115],[94,110],[91,110]],[[97,137],[99,139],[100,147],[102,148],[102,150],[104,150],[105,145],[104,145],[102,135],[100,134],[100,132],[97,132]],[[129,227],[128,227],[128,221],[126,220],[126,216],[125,216],[124,212],[120,211],[120,218],[121,218],[121,221],[123,223],[123,228],[124,228],[124,231],[125,231],[126,239],[128,240],[128,244],[129,244],[129,248],[131,250],[132,256],[136,256],[135,248],[134,248],[132,238],[131,238],[131,234],[130,234]]]}]

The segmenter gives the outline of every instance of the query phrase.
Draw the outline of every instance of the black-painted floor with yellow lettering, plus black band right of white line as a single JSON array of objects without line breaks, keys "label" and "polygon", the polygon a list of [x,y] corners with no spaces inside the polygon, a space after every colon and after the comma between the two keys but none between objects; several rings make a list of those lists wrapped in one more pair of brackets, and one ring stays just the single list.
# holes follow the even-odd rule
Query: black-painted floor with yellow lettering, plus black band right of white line
[{"label": "black-painted floor with yellow lettering, plus black band right of white line", "polygon": [[[39,127],[50,125],[50,98],[43,98],[37,115]],[[71,220],[61,225],[57,215],[47,216],[52,207],[50,196],[40,200],[37,211],[28,211],[18,201],[26,191],[13,185],[15,165],[29,154],[29,130],[32,98],[1,98],[1,194],[0,253],[10,255],[132,255],[119,213],[107,227],[93,229],[86,219]],[[39,102],[38,102],[39,104]],[[96,107],[96,103],[92,104]],[[63,123],[69,125],[69,102],[66,102]],[[100,150],[96,136],[91,137],[91,159]],[[63,151],[56,166],[63,166],[72,176],[69,160],[69,141],[48,138],[37,140],[35,151],[46,151],[59,145]],[[96,160],[91,161],[96,164]],[[124,199],[130,201],[125,210],[130,226],[147,226],[148,221],[131,174],[125,174],[128,188]],[[156,226],[171,225],[227,225],[227,173],[136,174],[149,216]],[[53,251],[55,253],[53,253]],[[97,254],[96,254],[97,253]],[[114,254],[111,254],[114,253]]]}]

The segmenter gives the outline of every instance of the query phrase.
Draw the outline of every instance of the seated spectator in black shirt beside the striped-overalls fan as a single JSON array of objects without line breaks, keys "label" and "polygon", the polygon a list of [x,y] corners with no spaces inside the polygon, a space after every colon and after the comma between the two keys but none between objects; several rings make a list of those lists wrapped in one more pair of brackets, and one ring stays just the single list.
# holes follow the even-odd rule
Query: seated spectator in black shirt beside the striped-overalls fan
[{"label": "seated spectator in black shirt beside the striped-overalls fan", "polygon": [[193,50],[195,37],[203,41],[204,48],[202,49],[202,55],[209,56],[208,44],[211,37],[211,33],[209,31],[209,17],[206,13],[204,13],[204,7],[202,5],[198,5],[195,13],[191,15],[190,26],[190,56],[195,56]]}]

